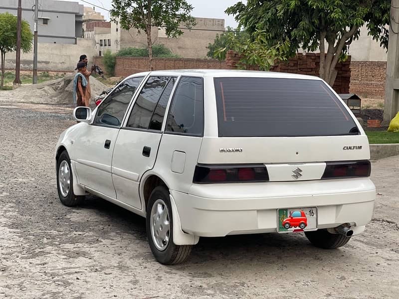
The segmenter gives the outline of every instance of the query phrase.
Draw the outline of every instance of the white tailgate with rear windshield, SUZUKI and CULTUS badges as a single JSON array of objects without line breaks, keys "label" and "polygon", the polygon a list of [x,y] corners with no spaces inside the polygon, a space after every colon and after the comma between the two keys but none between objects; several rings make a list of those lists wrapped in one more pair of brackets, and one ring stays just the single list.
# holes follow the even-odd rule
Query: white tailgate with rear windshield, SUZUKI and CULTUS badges
[{"label": "white tailgate with rear windshield, SUZUKI and CULTUS badges", "polygon": [[367,136],[321,80],[215,78],[217,137],[203,164],[266,164],[270,181],[320,179],[328,161],[370,158]]}]

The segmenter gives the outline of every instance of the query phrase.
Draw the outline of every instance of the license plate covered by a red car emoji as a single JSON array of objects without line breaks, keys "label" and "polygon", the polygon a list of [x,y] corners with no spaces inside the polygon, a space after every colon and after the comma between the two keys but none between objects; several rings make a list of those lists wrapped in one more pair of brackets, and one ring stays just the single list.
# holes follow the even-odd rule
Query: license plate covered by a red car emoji
[{"label": "license plate covered by a red car emoji", "polygon": [[277,232],[294,233],[317,229],[317,207],[277,210]]}]

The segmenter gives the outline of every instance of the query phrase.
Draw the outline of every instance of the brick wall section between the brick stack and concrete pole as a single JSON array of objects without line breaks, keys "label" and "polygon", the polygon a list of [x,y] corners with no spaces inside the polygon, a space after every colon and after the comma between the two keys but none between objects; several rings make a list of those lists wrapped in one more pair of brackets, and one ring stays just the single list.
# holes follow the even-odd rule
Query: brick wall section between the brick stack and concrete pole
[{"label": "brick wall section between the brick stack and concrete pole", "polygon": [[351,93],[374,99],[385,97],[386,61],[352,61],[351,70]]}]

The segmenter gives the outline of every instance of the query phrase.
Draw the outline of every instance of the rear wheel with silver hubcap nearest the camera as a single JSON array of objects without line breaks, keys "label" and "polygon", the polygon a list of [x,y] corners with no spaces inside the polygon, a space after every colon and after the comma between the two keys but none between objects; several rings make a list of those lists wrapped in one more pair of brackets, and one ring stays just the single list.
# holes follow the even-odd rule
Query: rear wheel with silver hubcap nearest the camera
[{"label": "rear wheel with silver hubcap nearest the camera", "polygon": [[146,227],[148,243],[155,259],[164,265],[180,264],[186,261],[192,245],[173,243],[173,215],[169,190],[156,187],[148,201]]}]

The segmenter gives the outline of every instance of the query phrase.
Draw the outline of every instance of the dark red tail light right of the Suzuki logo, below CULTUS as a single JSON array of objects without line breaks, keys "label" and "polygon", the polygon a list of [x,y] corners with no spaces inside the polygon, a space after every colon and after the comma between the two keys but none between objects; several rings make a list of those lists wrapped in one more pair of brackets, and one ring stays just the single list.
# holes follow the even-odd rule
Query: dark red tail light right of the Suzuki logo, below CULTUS
[{"label": "dark red tail light right of the Suzuki logo, below CULTUS", "polygon": [[369,160],[327,162],[322,179],[344,177],[367,177],[371,173]]}]

